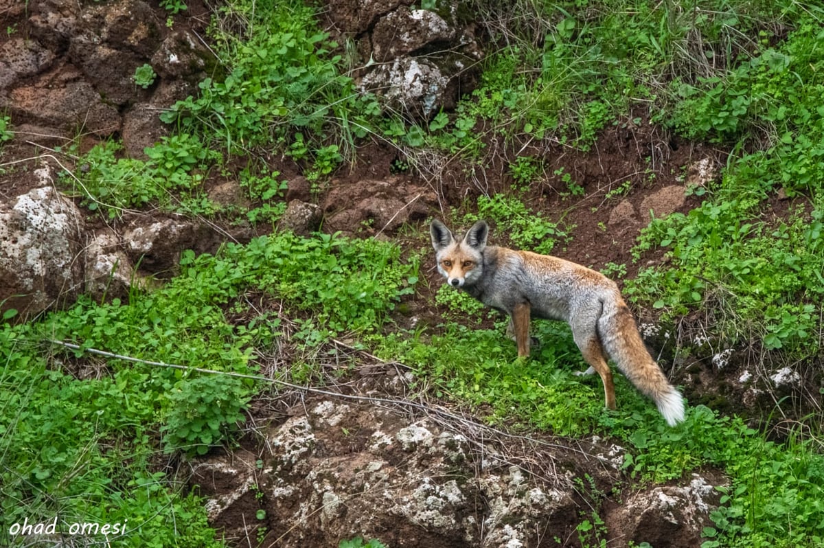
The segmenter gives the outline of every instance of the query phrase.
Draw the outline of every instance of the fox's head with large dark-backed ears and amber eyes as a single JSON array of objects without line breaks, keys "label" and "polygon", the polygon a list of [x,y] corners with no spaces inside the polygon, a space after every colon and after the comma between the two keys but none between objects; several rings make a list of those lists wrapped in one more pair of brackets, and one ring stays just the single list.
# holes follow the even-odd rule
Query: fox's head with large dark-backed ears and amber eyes
[{"label": "fox's head with large dark-backed ears and amber eyes", "polygon": [[456,288],[474,285],[483,275],[483,253],[489,225],[485,221],[475,222],[463,240],[457,241],[446,225],[435,219],[429,233],[438,260],[438,272],[447,283]]}]

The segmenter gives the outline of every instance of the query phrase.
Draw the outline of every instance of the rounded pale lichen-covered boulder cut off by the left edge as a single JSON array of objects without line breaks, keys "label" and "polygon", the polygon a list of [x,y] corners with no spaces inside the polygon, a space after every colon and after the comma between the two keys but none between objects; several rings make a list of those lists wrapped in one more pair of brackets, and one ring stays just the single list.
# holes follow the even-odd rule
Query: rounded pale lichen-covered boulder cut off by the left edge
[{"label": "rounded pale lichen-covered boulder cut off by the left edge", "polygon": [[[35,175],[52,182],[49,168]],[[54,186],[0,201],[0,307],[34,315],[82,287],[83,217]]]}]

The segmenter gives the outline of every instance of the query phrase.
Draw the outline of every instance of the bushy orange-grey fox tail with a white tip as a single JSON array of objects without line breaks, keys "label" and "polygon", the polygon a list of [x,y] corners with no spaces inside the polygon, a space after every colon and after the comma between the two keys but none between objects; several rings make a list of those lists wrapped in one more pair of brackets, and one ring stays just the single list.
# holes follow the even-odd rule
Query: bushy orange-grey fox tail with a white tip
[{"label": "bushy orange-grey fox tail with a white tip", "polygon": [[684,420],[684,399],[672,386],[658,363],[649,355],[632,312],[623,300],[604,302],[598,332],[606,353],[625,377],[655,402],[658,411],[675,426]]}]

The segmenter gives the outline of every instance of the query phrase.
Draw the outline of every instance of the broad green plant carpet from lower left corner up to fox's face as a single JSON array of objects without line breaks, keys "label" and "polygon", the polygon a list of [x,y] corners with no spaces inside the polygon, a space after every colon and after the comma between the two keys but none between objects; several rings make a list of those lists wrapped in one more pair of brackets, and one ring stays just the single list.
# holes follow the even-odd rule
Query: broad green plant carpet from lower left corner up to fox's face
[{"label": "broad green plant carpet from lower left corner up to fox's face", "polygon": [[[283,299],[291,339],[312,347],[377,330],[412,291],[417,269],[389,244],[288,233],[182,262],[170,283],[129,302],[81,298],[0,331],[0,535],[24,520],[60,516],[69,524],[126,522],[119,546],[222,545],[197,494],[152,471],[152,459],[231,446],[250,397],[271,390],[251,377],[283,337],[280,319],[250,294]],[[302,364],[277,374],[311,380]]]}]

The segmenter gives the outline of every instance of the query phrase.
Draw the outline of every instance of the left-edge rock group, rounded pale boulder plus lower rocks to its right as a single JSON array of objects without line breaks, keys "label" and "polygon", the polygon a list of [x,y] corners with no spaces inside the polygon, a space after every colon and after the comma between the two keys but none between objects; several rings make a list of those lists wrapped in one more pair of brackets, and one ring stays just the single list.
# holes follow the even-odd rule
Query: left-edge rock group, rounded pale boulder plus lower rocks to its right
[{"label": "left-edge rock group, rounded pale boulder plus lower rocks to its right", "polygon": [[87,227],[77,205],[54,188],[49,166],[34,176],[40,186],[0,197],[0,312],[13,308],[31,317],[71,304],[79,293],[126,297],[147,275],[174,274],[183,250],[214,251],[232,238],[185,218],[138,215],[117,230]]}]

